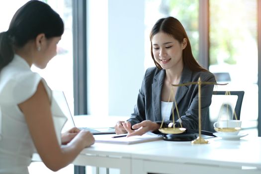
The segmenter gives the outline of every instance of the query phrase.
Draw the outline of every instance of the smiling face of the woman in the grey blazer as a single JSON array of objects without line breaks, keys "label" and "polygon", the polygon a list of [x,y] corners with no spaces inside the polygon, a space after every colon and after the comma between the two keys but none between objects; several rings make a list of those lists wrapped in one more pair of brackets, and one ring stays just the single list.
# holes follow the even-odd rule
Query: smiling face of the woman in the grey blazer
[{"label": "smiling face of the woman in the grey blazer", "polygon": [[186,47],[186,39],[179,43],[172,36],[159,32],[152,38],[152,52],[156,62],[165,70],[182,67],[182,51]]}]

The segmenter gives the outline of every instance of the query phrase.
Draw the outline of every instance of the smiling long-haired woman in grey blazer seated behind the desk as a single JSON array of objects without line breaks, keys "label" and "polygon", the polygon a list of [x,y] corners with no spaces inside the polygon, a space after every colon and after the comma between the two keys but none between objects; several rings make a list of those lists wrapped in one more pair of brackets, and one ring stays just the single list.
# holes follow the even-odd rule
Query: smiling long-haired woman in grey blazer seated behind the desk
[{"label": "smiling long-haired woman in grey blazer seated behind the desk", "polygon": [[[185,128],[198,129],[198,86],[172,87],[172,84],[196,82],[199,77],[203,82],[215,82],[214,75],[196,62],[187,34],[176,18],[159,19],[152,28],[150,40],[151,55],[156,67],[147,69],[134,112],[127,121],[117,122],[115,132],[128,132],[128,136],[142,135],[148,131],[157,131],[162,120],[164,127],[171,127],[172,106],[175,121],[181,122]],[[213,87],[201,86],[202,124],[211,104]],[[177,108],[174,99],[169,97],[171,91]]]}]

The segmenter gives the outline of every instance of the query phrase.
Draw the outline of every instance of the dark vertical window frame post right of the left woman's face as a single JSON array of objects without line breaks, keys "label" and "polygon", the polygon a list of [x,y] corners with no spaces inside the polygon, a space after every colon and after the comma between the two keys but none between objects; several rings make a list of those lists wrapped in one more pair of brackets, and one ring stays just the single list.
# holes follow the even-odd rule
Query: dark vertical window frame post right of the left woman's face
[{"label": "dark vertical window frame post right of the left woman's face", "polygon": [[73,0],[74,114],[87,114],[87,1]]}]

